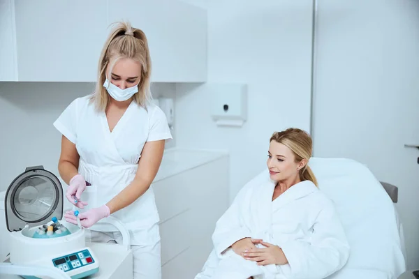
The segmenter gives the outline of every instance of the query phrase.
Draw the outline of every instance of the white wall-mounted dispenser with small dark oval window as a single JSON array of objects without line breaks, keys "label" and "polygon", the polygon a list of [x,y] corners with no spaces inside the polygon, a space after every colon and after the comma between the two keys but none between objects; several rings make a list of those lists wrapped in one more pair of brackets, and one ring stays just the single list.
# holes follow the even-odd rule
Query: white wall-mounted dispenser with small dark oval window
[{"label": "white wall-mounted dispenser with small dark oval window", "polygon": [[212,84],[212,119],[218,126],[241,127],[247,121],[247,86]]}]

